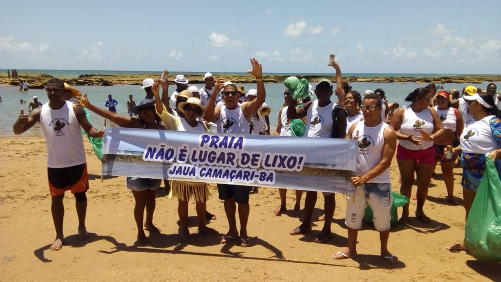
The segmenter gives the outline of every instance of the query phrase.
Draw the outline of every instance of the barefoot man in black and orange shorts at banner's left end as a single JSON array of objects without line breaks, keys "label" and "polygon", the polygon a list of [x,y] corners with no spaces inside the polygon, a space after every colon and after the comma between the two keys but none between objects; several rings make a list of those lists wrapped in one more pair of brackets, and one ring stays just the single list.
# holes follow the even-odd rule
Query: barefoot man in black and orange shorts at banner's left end
[{"label": "barefoot man in black and orange shorts at banner's left end", "polygon": [[78,234],[81,240],[88,238],[85,228],[87,212],[86,191],[89,189],[84,143],[80,126],[91,137],[103,137],[104,131],[92,127],[82,107],[64,100],[65,85],[61,79],[53,78],[46,86],[49,102],[25,115],[23,109],[14,123],[14,133],[21,134],[39,121],[46,137],[49,190],[52,196],[52,218],[56,228],[56,239],[51,250],[63,246],[64,192],[71,190],[75,195],[79,218]]}]

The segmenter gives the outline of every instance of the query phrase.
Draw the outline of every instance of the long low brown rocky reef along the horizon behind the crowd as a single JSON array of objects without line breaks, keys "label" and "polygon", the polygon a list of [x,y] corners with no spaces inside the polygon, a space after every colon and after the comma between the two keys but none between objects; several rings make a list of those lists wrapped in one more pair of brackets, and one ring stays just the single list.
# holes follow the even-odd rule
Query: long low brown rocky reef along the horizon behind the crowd
[{"label": "long low brown rocky reef along the horizon behind the crowd", "polygon": [[[65,80],[70,85],[100,85],[100,86],[111,86],[111,85],[141,85],[144,78],[157,78],[160,76],[158,73],[129,73],[129,74],[83,74],[78,78],[75,77],[64,77],[59,76],[59,78]],[[175,75],[178,73],[169,74],[169,81],[172,83]],[[203,83],[203,74],[185,74],[186,78],[190,83]],[[264,80],[266,83],[277,83],[283,82],[290,74],[265,74]],[[306,78],[310,82],[317,82],[322,78],[328,78],[331,81],[335,81],[334,73],[332,75],[325,74],[298,74],[300,78]],[[7,73],[0,73],[0,85],[13,85],[17,86],[20,80],[27,80],[30,84],[30,88],[43,88],[45,83],[53,77],[52,75],[43,73],[31,73],[31,72],[20,72],[18,79],[9,79]],[[232,81],[233,83],[253,83],[255,82],[254,77],[249,74],[240,73],[217,73],[216,78],[224,77],[226,80]],[[501,75],[443,75],[436,77],[412,77],[412,76],[374,76],[374,77],[360,77],[360,76],[346,76],[343,77],[345,81],[348,82],[379,82],[379,83],[393,83],[393,82],[413,82],[413,83],[482,83],[482,82],[492,82],[501,81]]]}]

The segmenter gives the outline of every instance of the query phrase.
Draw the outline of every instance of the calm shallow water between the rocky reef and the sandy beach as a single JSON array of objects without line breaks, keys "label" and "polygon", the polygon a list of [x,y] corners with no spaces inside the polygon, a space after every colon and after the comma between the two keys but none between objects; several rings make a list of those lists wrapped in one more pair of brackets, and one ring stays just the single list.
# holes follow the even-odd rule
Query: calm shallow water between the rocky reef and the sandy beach
[{"label": "calm shallow water between the rocky reef and the sandy beach", "polygon": [[[102,71],[99,71],[103,73]],[[486,89],[489,82],[483,82],[481,84],[475,84],[476,87]],[[494,82],[500,85],[501,82]],[[201,84],[193,84],[198,88],[201,88]],[[255,83],[243,83],[245,89],[256,88]],[[353,90],[357,90],[363,93],[365,90],[374,90],[376,88],[382,88],[386,92],[388,102],[399,102],[401,106],[407,105],[404,101],[405,97],[417,87],[424,87],[425,84],[416,83],[371,83],[371,82],[352,82],[350,83]],[[468,84],[445,84],[445,90],[450,88],[456,88],[461,90]],[[315,85],[314,85],[315,86]],[[272,113],[270,114],[270,127],[271,131],[275,131],[277,128],[277,122],[279,120],[278,114],[280,109],[283,107],[284,102],[284,84],[283,83],[266,83],[266,103],[272,108]],[[82,93],[87,93],[91,103],[105,108],[104,104],[108,99],[108,95],[111,94],[115,100],[118,101],[117,113],[121,115],[127,115],[127,100],[129,94],[134,96],[136,103],[139,104],[141,99],[144,98],[145,92],[138,85],[114,85],[114,86],[78,86],[76,87]],[[19,116],[20,108],[24,108],[25,113],[28,113],[28,104],[33,100],[33,96],[38,96],[39,101],[42,103],[48,102],[47,93],[44,89],[30,89],[27,92],[19,92],[19,87],[17,86],[0,86],[0,97],[2,97],[2,102],[0,102],[0,113],[2,118],[0,119],[0,136],[12,136],[14,132],[12,131],[12,125]],[[169,93],[175,90],[174,86],[169,87]],[[28,101],[26,104],[20,104],[19,100],[23,99]],[[333,96],[334,101],[337,101],[337,97]],[[91,123],[96,128],[103,127],[103,118],[91,112]],[[109,124],[109,121],[108,121]],[[113,125],[113,124],[112,124]],[[40,124],[36,124],[33,128],[25,132],[23,135],[26,136],[42,136],[40,130]]]}]

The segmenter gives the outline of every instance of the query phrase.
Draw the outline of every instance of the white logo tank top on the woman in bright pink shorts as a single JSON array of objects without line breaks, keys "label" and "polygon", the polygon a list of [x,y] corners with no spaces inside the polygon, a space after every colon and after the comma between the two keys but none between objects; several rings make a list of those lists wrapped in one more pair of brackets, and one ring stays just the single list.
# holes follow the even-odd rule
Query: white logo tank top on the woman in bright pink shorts
[{"label": "white logo tank top on the woman in bright pink shorts", "polygon": [[[400,132],[405,135],[414,134],[412,137],[418,139],[417,136],[421,136],[419,129],[423,129],[430,135],[433,132],[433,117],[429,108],[425,108],[420,112],[414,112],[410,105],[405,106]],[[421,140],[421,142],[421,145],[415,145],[408,140],[398,140],[400,146],[409,150],[424,150],[433,146],[433,141]]]}]

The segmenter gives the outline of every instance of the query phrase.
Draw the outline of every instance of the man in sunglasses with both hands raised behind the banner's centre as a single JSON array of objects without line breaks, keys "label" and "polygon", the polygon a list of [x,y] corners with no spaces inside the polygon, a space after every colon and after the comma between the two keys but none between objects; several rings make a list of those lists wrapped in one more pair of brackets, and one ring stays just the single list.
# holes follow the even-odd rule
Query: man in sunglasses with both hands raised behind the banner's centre
[{"label": "man in sunglasses with both hands raised behind the banner's centre", "polygon": [[[265,84],[263,82],[263,69],[255,58],[250,59],[253,69],[247,71],[256,77],[258,95],[252,102],[238,103],[238,89],[234,84],[227,84],[223,88],[224,78],[220,78],[214,85],[213,93],[219,93],[223,89],[224,106],[216,107],[216,96],[211,95],[205,110],[205,120],[217,124],[217,132],[248,134],[249,122],[252,115],[259,110],[266,99]],[[238,236],[236,229],[236,204],[238,203],[238,215],[240,220],[240,246],[247,247],[250,238],[247,235],[247,221],[250,212],[248,203],[249,190],[247,186],[217,184],[219,199],[224,200],[224,211],[228,217],[228,232],[219,238],[219,242],[225,244]]]}]

